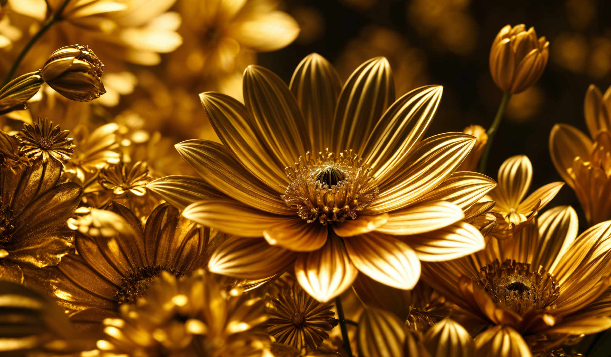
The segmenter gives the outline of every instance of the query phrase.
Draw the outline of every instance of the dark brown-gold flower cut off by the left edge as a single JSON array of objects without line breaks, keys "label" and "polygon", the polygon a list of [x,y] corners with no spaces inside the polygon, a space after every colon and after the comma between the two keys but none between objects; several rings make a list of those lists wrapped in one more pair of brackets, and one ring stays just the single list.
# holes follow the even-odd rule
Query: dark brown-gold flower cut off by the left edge
[{"label": "dark brown-gold flower cut off by the left edge", "polygon": [[0,279],[34,282],[36,268],[59,263],[72,249],[66,220],[82,189],[59,182],[61,165],[38,158],[15,171],[0,168]]}]

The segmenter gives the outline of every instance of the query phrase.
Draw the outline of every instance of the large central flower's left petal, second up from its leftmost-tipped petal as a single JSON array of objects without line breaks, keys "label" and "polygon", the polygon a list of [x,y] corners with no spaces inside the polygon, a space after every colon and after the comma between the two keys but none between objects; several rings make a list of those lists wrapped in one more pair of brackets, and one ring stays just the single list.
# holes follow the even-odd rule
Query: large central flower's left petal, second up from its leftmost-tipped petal
[{"label": "large central flower's left petal, second up from its leftmost-tipped petal", "polygon": [[196,139],[183,141],[175,147],[197,174],[227,196],[264,212],[295,213],[276,192],[246,171],[224,145]]}]

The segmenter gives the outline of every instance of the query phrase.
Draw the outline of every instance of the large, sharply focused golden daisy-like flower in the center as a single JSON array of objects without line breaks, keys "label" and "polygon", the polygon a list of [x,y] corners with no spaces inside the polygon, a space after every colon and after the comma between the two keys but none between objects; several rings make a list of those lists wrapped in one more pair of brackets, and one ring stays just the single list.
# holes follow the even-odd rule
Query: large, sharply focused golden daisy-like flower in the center
[{"label": "large, sharply focused golden daisy-like flower in the center", "polygon": [[421,141],[441,92],[422,87],[395,101],[383,57],[362,64],[343,89],[318,54],[299,64],[290,87],[250,66],[246,106],[223,94],[200,95],[224,145],[176,145],[207,184],[170,176],[147,187],[188,206],[183,215],[197,223],[250,237],[219,246],[208,264],[214,273],[258,279],[295,262],[299,284],[321,302],[348,289],[359,270],[411,289],[419,260],[483,248],[480,232],[460,221],[461,207],[494,187],[484,175],[452,175],[472,136]]}]

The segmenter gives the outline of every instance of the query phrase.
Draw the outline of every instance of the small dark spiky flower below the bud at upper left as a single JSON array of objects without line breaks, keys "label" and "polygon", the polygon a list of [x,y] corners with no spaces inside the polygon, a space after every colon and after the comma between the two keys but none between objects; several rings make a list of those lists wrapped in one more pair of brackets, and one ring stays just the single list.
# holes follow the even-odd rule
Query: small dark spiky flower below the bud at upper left
[{"label": "small dark spiky flower below the bud at upper left", "polygon": [[69,130],[60,130],[59,125],[53,126],[53,120],[37,118],[34,126],[23,124],[23,129],[16,135],[19,139],[21,152],[29,158],[42,156],[46,163],[49,158],[57,160],[60,164],[70,160],[75,145],[73,139],[68,138]]}]

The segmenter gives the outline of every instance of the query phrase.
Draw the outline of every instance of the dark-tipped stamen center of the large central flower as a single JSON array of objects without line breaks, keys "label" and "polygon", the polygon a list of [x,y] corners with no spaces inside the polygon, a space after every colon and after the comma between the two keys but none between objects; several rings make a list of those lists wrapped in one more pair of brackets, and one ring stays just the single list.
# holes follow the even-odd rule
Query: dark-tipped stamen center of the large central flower
[{"label": "dark-tipped stamen center of the large central flower", "polygon": [[316,157],[307,152],[285,172],[291,183],[280,197],[308,223],[354,219],[378,195],[371,167],[352,150],[338,156],[327,150]]}]

